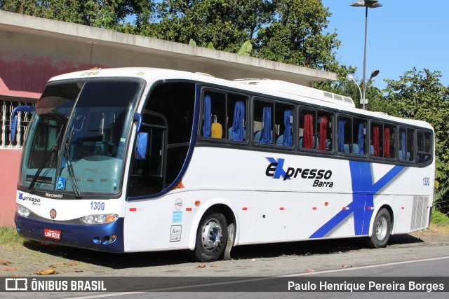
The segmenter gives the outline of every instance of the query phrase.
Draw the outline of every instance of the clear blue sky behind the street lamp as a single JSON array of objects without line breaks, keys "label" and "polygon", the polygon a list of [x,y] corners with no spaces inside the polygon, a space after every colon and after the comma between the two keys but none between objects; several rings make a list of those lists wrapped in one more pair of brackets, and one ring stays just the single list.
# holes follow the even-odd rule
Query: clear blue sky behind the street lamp
[{"label": "clear blue sky behind the street lamp", "polygon": [[[352,7],[355,0],[321,0],[332,15],[328,29],[337,29],[342,46],[340,64],[357,67],[354,78],[363,78],[365,9]],[[381,90],[385,78],[398,81],[404,72],[441,71],[441,83],[449,87],[449,1],[380,0],[382,7],[368,8],[366,78],[373,69],[380,73],[372,81]]]}]

